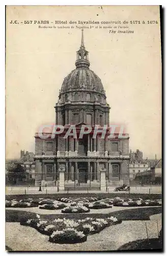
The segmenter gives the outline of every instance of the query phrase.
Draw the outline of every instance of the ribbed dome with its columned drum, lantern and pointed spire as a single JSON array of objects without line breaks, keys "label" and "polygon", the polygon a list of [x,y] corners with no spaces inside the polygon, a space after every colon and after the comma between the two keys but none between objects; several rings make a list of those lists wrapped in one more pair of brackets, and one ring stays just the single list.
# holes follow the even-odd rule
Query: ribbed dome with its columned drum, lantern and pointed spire
[{"label": "ribbed dome with its columned drum, lantern and pointed spire", "polygon": [[65,77],[59,92],[58,103],[55,104],[57,124],[90,125],[109,124],[109,105],[101,79],[89,69],[88,51],[84,46],[82,30],[81,46],[76,52],[76,69]]}]

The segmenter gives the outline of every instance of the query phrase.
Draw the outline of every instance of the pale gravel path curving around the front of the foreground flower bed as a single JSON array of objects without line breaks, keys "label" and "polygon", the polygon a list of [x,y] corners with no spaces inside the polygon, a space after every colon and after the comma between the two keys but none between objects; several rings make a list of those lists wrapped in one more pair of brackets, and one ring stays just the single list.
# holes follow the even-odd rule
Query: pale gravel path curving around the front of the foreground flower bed
[{"label": "pale gravel path curving around the front of the foreground flower bed", "polygon": [[21,226],[16,222],[7,222],[6,245],[11,247],[14,251],[118,250],[118,248],[125,243],[138,239],[146,239],[147,233],[145,223],[147,223],[149,238],[157,238],[157,221],[158,229],[160,230],[161,214],[157,214],[150,216],[149,221],[123,221],[121,224],[107,227],[100,233],[88,236],[87,241],[84,243],[73,245],[50,243],[48,241],[48,236],[39,233],[32,227]]}]

